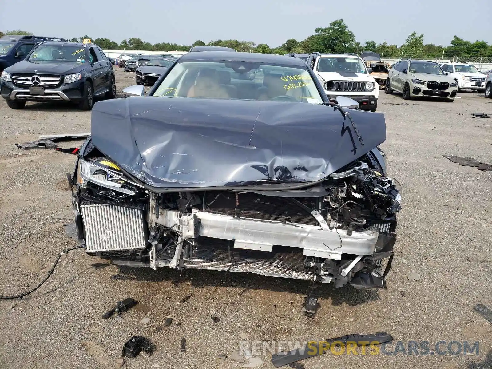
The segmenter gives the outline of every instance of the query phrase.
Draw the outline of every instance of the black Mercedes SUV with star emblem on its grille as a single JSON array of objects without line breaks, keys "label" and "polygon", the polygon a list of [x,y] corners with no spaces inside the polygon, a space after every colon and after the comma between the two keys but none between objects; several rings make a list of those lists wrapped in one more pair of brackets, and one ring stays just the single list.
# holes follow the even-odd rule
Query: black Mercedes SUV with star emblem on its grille
[{"label": "black Mercedes SUV with star emblem on its grille", "polygon": [[1,73],[0,87],[12,109],[24,108],[26,101],[65,100],[91,110],[94,97],[116,95],[113,66],[102,50],[76,42],[41,42]]}]

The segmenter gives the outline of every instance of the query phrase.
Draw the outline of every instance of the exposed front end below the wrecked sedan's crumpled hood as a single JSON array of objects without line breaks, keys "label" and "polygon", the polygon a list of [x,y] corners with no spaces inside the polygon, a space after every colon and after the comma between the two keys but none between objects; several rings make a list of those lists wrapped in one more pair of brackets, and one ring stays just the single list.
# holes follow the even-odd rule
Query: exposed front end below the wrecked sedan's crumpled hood
[{"label": "exposed front end below the wrecked sedan's crumpled hood", "polygon": [[385,287],[400,185],[385,175],[377,148],[310,187],[176,192],[154,192],[92,144],[83,149],[68,177],[89,254],[154,270]]}]

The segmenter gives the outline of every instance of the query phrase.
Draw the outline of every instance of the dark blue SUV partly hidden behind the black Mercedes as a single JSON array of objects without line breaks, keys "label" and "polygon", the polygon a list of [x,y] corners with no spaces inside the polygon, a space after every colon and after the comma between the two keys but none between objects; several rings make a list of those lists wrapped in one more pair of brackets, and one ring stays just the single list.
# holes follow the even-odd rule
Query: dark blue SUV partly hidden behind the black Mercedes
[{"label": "dark blue SUV partly hidden behind the black Mercedes", "polygon": [[0,72],[8,66],[22,61],[35,45],[47,40],[66,41],[63,38],[24,36],[22,34],[7,34],[0,37]]}]

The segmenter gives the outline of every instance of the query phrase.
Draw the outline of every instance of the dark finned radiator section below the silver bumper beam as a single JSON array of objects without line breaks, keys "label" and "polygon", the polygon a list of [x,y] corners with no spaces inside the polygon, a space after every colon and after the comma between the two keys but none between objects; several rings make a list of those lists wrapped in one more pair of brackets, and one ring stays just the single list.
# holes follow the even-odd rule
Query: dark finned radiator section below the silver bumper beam
[{"label": "dark finned radiator section below the silver bumper beam", "polygon": [[[290,252],[289,252],[290,250]],[[311,279],[312,271],[303,265],[302,251],[274,246],[269,251],[234,248],[234,241],[200,236],[190,248],[184,269],[255,273],[268,277]]]}]

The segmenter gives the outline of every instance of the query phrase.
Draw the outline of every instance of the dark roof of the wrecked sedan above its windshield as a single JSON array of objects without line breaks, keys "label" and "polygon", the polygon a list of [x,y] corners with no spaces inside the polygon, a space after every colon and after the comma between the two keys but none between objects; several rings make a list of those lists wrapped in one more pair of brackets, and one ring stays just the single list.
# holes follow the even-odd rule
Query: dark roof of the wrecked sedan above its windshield
[{"label": "dark roof of the wrecked sedan above its windshield", "polygon": [[271,64],[285,64],[292,66],[305,67],[306,63],[299,58],[286,57],[284,55],[259,54],[259,53],[231,53],[230,51],[204,51],[201,53],[187,53],[181,58],[181,61],[201,61],[201,60],[219,60],[231,62],[262,62]]}]

